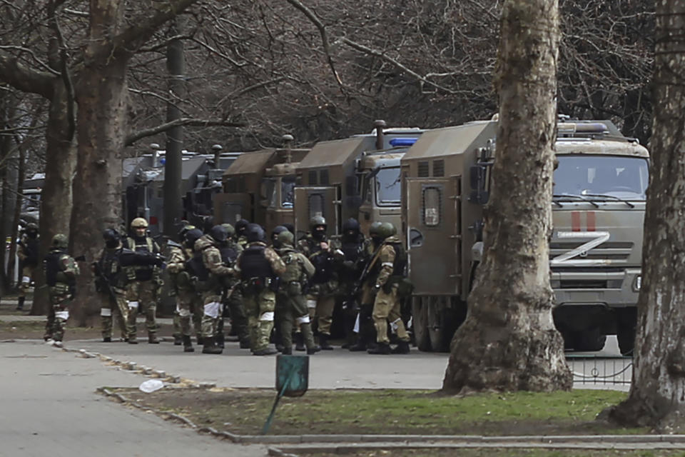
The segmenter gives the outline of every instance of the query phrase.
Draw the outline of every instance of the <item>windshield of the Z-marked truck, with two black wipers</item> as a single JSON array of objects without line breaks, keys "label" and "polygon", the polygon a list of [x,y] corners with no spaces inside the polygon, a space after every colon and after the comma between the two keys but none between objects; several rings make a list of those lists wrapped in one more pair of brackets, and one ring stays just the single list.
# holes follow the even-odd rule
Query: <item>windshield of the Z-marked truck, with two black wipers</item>
[{"label": "windshield of the Z-marked truck, with two black wipers", "polygon": [[557,156],[554,196],[645,200],[649,164],[644,157]]}]

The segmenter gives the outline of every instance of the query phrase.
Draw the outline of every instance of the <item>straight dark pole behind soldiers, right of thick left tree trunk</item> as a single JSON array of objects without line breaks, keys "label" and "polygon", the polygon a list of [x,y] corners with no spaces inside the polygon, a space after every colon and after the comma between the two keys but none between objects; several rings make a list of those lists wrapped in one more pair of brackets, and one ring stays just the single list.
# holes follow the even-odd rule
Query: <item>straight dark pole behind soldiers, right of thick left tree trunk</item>
[{"label": "straight dark pole behind soldiers, right of thick left tree trunk", "polygon": [[[171,23],[169,34],[181,35],[185,19],[177,16]],[[183,51],[183,40],[172,39],[166,49],[166,68],[168,70],[168,101],[166,120],[181,119],[179,104],[186,98],[186,56]],[[181,166],[183,164],[183,127],[176,126],[166,132],[166,156],[164,164],[164,217],[163,233],[174,236],[177,225],[183,216],[181,196]]]}]

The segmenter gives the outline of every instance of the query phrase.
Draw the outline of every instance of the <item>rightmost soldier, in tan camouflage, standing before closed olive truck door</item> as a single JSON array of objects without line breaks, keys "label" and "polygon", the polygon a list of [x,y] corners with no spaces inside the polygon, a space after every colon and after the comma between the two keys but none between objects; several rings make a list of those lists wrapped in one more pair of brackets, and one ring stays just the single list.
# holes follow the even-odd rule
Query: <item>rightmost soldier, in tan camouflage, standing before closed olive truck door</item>
[{"label": "rightmost soldier, in tan camouflage, standing before closed olive truck door", "polygon": [[[407,256],[402,241],[396,235],[397,229],[390,222],[383,222],[379,235],[382,245],[378,253],[380,272],[373,286],[376,293],[373,302],[373,324],[376,328],[375,348],[368,350],[370,354],[409,353],[409,335],[402,322],[400,312],[400,293],[398,288],[404,278]],[[390,321],[392,330],[397,333],[399,343],[397,348],[390,351],[390,340],[387,338],[387,322]]]}]

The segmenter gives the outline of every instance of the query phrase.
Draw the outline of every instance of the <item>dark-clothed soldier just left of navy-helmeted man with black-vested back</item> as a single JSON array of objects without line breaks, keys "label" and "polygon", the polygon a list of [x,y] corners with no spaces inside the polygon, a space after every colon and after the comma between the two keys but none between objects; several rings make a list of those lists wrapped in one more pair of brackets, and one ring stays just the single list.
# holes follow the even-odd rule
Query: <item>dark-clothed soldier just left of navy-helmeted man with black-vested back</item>
[{"label": "dark-clothed soldier just left of navy-helmeted man with black-vested back", "polygon": [[[243,252],[243,247],[233,239],[235,229],[232,225],[221,224],[221,226],[228,233],[226,241],[219,246],[221,258],[225,264],[234,266],[238,256]],[[249,349],[250,330],[248,329],[248,316],[245,314],[245,307],[243,306],[243,295],[240,292],[240,279],[237,276],[225,276],[223,288],[225,290],[225,305],[230,316],[230,332],[238,336],[241,349]],[[223,334],[223,329],[220,334]]]}]

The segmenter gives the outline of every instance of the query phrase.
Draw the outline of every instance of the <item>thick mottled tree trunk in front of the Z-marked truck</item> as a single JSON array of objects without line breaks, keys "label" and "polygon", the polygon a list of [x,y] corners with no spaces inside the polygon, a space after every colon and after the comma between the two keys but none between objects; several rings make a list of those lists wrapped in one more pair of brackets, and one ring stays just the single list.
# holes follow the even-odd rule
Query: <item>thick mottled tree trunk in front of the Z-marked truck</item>
[{"label": "thick mottled tree trunk in front of the Z-marked truck", "polygon": [[549,286],[558,15],[557,0],[504,3],[484,260],[452,341],[443,391],[572,387]]}]

